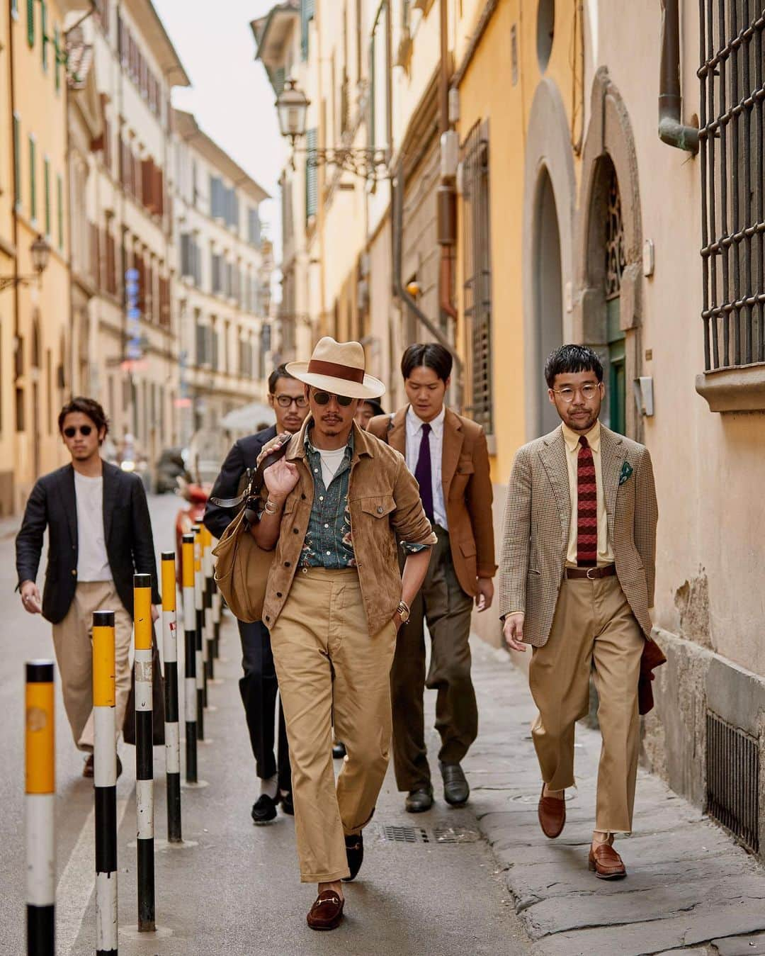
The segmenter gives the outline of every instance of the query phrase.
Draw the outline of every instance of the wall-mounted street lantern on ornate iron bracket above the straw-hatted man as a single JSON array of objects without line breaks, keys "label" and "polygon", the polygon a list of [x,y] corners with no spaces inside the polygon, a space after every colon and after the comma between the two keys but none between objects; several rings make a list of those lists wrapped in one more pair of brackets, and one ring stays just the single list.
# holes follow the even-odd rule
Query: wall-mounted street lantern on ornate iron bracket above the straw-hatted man
[{"label": "wall-mounted street lantern on ornate iron bracket above the straw-hatted man", "polygon": [[306,135],[306,120],[310,100],[297,85],[296,79],[287,79],[284,89],[276,98],[276,113],[279,118],[279,130],[292,144],[292,167],[294,154],[306,154],[307,166],[337,166],[366,180],[384,179],[390,176],[388,170],[388,151],[370,147],[333,146],[326,149],[317,147],[298,149],[295,141]]}]

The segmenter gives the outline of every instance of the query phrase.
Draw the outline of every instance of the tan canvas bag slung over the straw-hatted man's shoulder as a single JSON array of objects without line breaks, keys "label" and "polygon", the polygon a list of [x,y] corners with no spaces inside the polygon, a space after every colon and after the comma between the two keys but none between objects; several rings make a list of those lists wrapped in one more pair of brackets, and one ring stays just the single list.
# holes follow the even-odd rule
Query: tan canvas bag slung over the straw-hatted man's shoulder
[{"label": "tan canvas bag slung over the straw-hatted man's shoulder", "polygon": [[[287,452],[288,442],[266,455],[255,469],[249,484],[236,504],[244,503],[244,508],[223,532],[223,537],[213,548],[218,558],[215,566],[215,582],[226,604],[235,618],[250,623],[260,620],[263,615],[263,602],[266,599],[266,581],[273,564],[275,551],[264,551],[258,547],[255,538],[249,532],[244,517],[247,503],[260,497],[264,486],[263,473],[267,467],[279,461]],[[213,504],[234,507],[234,503],[222,502],[211,498]]]}]

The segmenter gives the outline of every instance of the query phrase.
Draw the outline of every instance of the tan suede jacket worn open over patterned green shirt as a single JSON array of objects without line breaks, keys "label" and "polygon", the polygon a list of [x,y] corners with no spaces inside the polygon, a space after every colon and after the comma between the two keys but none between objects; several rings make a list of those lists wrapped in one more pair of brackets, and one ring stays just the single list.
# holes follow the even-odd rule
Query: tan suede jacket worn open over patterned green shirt
[{"label": "tan suede jacket worn open over patterned green shirt", "polygon": [[[263,622],[269,628],[279,618],[289,596],[313,507],[313,478],[306,462],[305,443],[310,423],[308,416],[287,447],[287,461],[297,465],[299,478],[285,502],[276,554],[266,584]],[[436,535],[425,517],[419,487],[403,457],[356,424],[353,425],[353,447],[348,493],[351,535],[361,596],[373,636],[393,619],[401,599],[396,537],[410,544],[433,545]]]}]

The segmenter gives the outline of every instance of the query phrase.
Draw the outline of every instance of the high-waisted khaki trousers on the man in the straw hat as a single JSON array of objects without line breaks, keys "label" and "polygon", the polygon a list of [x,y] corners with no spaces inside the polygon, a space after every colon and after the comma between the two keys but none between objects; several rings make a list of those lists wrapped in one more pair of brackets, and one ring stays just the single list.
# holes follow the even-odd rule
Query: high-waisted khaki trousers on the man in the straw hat
[{"label": "high-waisted khaki trousers on the man in the straw hat", "polygon": [[[302,882],[349,876],[344,836],[370,821],[391,746],[393,621],[370,637],[354,569],[301,569],[271,629],[292,764]],[[348,756],[335,789],[332,718]]]}]

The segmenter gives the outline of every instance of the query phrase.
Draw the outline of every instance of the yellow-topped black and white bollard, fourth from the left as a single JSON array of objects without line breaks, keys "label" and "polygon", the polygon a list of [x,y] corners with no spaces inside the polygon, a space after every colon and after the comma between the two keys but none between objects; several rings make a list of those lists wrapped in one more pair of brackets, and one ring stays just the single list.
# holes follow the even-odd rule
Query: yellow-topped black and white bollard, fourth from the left
[{"label": "yellow-topped black and white bollard, fourth from the left", "polygon": [[162,649],[164,651],[164,767],[167,841],[181,843],[181,732],[178,707],[176,555],[162,552]]}]

